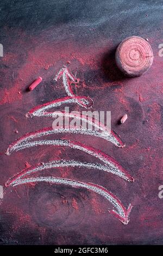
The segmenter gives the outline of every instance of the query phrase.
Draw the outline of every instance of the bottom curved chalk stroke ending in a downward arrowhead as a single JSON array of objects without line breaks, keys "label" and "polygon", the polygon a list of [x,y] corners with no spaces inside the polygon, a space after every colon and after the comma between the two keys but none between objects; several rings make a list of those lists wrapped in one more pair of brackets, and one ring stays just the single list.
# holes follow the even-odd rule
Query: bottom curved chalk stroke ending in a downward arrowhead
[{"label": "bottom curved chalk stroke ending in a downward arrowhead", "polygon": [[106,190],[106,188],[104,188],[102,186],[98,186],[96,184],[47,176],[47,177],[18,179],[17,181],[15,181],[15,183],[12,186],[14,187],[14,186],[20,186],[23,184],[28,184],[31,182],[43,182],[43,181],[49,182],[51,184],[64,184],[67,186],[72,186],[72,187],[76,187],[76,188],[83,187],[83,188],[86,188],[87,190],[91,190],[91,191],[103,196],[112,205],[114,205],[116,210],[109,210],[110,214],[112,214],[116,218],[118,218],[118,220],[120,220],[123,224],[128,224],[128,222],[129,222],[129,214],[132,209],[132,206],[129,204],[128,209],[126,209],[123,206],[123,204],[121,203],[120,199],[118,199],[114,194],[112,194],[111,192]]}]

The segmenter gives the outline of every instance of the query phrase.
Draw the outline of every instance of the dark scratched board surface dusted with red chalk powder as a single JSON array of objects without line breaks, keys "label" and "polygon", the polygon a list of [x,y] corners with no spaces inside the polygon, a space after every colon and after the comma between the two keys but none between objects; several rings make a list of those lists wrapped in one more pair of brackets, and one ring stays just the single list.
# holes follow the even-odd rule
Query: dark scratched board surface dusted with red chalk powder
[{"label": "dark scratched board surface dusted with red chalk powder", "polygon": [[[163,243],[162,11],[162,1],[1,1],[2,245]],[[138,78],[124,77],[115,66],[117,45],[131,35],[148,38],[154,52],[151,69]],[[39,76],[42,82],[28,92]],[[38,147],[28,139],[12,144],[26,133],[52,129],[54,117],[27,113],[63,99],[70,100],[70,111],[111,111],[111,129],[126,147],[86,131],[47,133],[37,138],[44,140]],[[64,110],[54,105],[48,111]],[[50,140],[55,145],[45,143]],[[107,171],[109,156],[118,163],[116,173]],[[58,167],[46,168],[52,161]],[[21,170],[24,176],[16,175]]]}]

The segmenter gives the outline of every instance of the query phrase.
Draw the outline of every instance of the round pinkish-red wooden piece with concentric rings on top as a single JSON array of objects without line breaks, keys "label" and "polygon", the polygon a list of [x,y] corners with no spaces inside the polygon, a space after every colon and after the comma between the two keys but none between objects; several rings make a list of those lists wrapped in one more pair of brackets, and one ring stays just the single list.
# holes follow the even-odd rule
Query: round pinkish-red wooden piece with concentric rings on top
[{"label": "round pinkish-red wooden piece with concentric rings on top", "polygon": [[151,45],[139,36],[124,39],[116,50],[116,64],[127,76],[136,77],[145,73],[153,62]]}]

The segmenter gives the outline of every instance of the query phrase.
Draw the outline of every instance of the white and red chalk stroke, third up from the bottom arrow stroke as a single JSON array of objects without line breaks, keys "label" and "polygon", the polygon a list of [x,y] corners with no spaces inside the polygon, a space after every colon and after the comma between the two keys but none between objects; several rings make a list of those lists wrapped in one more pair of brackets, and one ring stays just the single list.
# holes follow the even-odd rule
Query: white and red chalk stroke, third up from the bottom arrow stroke
[{"label": "white and red chalk stroke, third up from the bottom arrow stroke", "polygon": [[123,179],[126,179],[128,181],[134,181],[134,178],[131,177],[130,174],[127,173],[120,164],[118,164],[111,156],[106,155],[101,150],[97,150],[96,148],[89,147],[86,144],[69,141],[69,140],[63,140],[63,139],[55,139],[55,140],[42,140],[42,141],[32,141],[32,142],[23,142],[19,144],[11,145],[11,147],[8,148],[6,154],[10,155],[14,151],[19,151],[22,149],[37,147],[40,145],[53,145],[53,146],[62,146],[62,147],[70,147],[73,149],[78,149],[81,151],[84,151],[86,154],[89,154],[91,156],[95,156],[97,159],[101,160],[106,166],[108,166],[112,172],[118,173],[118,176],[121,176]]}]

